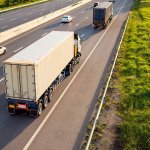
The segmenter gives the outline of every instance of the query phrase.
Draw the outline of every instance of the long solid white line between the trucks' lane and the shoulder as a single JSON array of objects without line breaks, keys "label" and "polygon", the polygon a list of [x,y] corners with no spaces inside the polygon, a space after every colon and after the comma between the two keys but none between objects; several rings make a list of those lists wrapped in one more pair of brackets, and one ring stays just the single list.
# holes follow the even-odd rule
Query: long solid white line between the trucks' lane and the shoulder
[{"label": "long solid white line between the trucks' lane and the shoulder", "polygon": [[[119,11],[119,13],[120,13],[120,11]],[[117,14],[117,16],[118,16],[118,14]],[[117,16],[114,18],[114,20],[117,18]],[[75,78],[77,77],[77,75],[79,74],[79,72],[81,71],[81,69],[84,67],[84,65],[86,64],[86,62],[88,61],[88,59],[90,58],[90,56],[92,55],[92,53],[94,52],[94,50],[96,49],[96,47],[98,46],[98,44],[100,43],[100,41],[102,40],[102,38],[104,37],[104,35],[106,34],[106,32],[108,31],[108,29],[110,28],[110,26],[114,22],[114,20],[110,23],[109,27],[104,31],[103,35],[100,37],[100,39],[98,40],[98,42],[96,43],[96,45],[93,47],[92,51],[87,56],[86,60],[83,62],[83,64],[81,65],[81,67],[78,69],[77,73],[74,75],[74,77],[72,78],[72,80],[70,81],[70,83],[68,84],[68,86],[65,88],[65,90],[62,92],[62,94],[60,95],[60,97],[56,100],[56,103],[51,108],[51,110],[48,112],[48,114],[46,115],[46,117],[44,118],[44,120],[41,122],[41,124],[39,125],[39,127],[36,129],[36,131],[34,132],[34,134],[32,135],[32,137],[27,142],[27,144],[24,146],[23,150],[27,150],[29,148],[29,146],[31,145],[31,143],[33,142],[33,140],[35,139],[35,137],[38,135],[38,133],[40,132],[40,130],[42,129],[42,127],[44,126],[44,124],[46,123],[46,121],[48,120],[48,118],[50,117],[50,115],[52,114],[52,112],[54,111],[54,109],[56,108],[56,106],[59,104],[60,100],[65,95],[65,93],[67,92],[67,90],[69,89],[69,87],[71,86],[71,84],[73,83],[73,81],[75,80]]]}]

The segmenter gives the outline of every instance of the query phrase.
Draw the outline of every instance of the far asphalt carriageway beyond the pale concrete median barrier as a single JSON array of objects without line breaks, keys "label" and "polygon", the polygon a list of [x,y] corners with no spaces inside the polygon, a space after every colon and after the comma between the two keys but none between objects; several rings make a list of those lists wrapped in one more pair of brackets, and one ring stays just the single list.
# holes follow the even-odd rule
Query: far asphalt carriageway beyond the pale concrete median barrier
[{"label": "far asphalt carriageway beyond the pale concrete median barrier", "polygon": [[0,32],[72,5],[79,0],[52,0],[0,14]]}]

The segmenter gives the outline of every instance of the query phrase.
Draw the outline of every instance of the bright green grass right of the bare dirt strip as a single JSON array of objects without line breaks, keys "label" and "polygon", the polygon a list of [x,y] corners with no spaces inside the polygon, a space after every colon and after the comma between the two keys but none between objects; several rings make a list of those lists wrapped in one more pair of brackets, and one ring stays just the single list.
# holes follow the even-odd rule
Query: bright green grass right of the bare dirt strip
[{"label": "bright green grass right of the bare dirt strip", "polygon": [[125,150],[150,148],[150,0],[136,0],[117,63],[120,142]]}]

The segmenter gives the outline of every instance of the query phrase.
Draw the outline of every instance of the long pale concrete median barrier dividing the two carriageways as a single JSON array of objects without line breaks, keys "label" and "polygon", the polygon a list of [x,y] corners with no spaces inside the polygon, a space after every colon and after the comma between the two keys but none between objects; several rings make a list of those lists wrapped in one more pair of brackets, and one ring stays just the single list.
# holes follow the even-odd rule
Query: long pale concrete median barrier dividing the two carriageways
[{"label": "long pale concrete median barrier dividing the two carriageways", "polygon": [[62,15],[62,14],[65,14],[65,13],[67,13],[69,11],[72,11],[73,9],[76,9],[76,8],[82,6],[82,5],[84,5],[84,4],[86,4],[86,3],[90,2],[90,1],[92,1],[92,0],[79,1],[76,4],[64,7],[62,9],[57,10],[55,12],[52,12],[52,13],[50,13],[48,15],[42,16],[40,18],[34,19],[32,21],[29,21],[29,22],[27,22],[25,24],[22,24],[22,25],[19,25],[17,27],[11,28],[11,29],[9,29],[7,31],[1,32],[0,33],[0,43],[4,42],[4,41],[6,41],[6,40],[8,40],[10,38],[13,38],[13,37],[15,37],[15,36],[17,36],[19,34],[27,32],[28,30],[31,30],[31,29],[33,29],[33,28],[35,28],[35,27],[37,27],[37,26],[39,26],[41,24],[44,24],[44,23],[46,23],[46,22],[48,22],[48,21],[50,21],[50,20],[52,20],[52,19]]}]

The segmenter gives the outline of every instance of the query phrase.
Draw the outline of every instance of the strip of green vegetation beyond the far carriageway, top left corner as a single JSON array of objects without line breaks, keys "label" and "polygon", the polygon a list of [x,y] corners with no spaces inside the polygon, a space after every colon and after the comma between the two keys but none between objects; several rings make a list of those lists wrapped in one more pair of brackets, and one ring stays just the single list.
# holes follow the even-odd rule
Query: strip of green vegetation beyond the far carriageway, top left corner
[{"label": "strip of green vegetation beyond the far carriageway, top left corner", "polygon": [[[23,6],[25,4],[38,3],[41,1],[42,0],[0,0],[0,10],[5,10],[8,8],[14,8],[14,7],[18,7],[18,6]],[[44,1],[46,1],[46,0],[43,0],[43,2]]]}]

